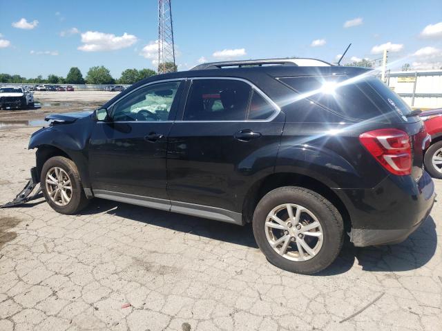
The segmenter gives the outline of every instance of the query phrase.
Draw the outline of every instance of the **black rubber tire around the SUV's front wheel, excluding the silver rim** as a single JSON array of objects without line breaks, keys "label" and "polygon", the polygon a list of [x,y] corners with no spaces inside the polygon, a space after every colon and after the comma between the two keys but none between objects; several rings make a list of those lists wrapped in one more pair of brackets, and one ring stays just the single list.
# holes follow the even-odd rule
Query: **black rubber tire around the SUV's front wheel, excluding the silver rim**
[{"label": "black rubber tire around the SUV's front wheel, excluding the silver rim", "polygon": [[[70,201],[66,205],[57,205],[57,203],[50,199],[48,194],[48,188],[46,187],[46,174],[54,167],[64,170],[66,174],[68,174],[70,183],[72,184],[72,195],[70,197]],[[77,166],[72,160],[67,159],[66,157],[51,157],[44,163],[43,168],[41,169],[40,181],[41,190],[43,191],[46,201],[56,212],[68,215],[77,214],[77,212],[84,209],[86,205],[88,205],[89,200],[84,194],[83,185],[81,184]]]}]

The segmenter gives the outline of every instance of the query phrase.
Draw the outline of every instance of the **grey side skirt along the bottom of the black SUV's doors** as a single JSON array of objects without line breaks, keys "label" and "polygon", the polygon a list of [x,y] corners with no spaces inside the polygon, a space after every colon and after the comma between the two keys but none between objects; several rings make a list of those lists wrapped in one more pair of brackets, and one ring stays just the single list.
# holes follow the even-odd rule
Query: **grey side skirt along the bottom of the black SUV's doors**
[{"label": "grey side skirt along the bottom of the black SUV's doors", "polygon": [[93,194],[97,198],[130,203],[132,205],[141,205],[143,207],[166,210],[168,212],[177,212],[178,214],[202,217],[204,219],[214,219],[215,221],[244,225],[242,214],[240,212],[232,212],[231,210],[211,207],[209,205],[197,205],[195,203],[170,201],[106,190],[93,190]]}]

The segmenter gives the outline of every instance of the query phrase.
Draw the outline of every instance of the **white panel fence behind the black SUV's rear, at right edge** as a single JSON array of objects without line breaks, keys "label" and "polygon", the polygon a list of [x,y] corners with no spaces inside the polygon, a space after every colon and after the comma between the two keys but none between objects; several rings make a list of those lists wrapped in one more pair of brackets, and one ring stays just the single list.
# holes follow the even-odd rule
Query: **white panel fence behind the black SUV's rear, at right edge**
[{"label": "white panel fence behind the black SUV's rear, at right edge", "polygon": [[442,70],[390,72],[387,83],[413,108],[442,108]]}]

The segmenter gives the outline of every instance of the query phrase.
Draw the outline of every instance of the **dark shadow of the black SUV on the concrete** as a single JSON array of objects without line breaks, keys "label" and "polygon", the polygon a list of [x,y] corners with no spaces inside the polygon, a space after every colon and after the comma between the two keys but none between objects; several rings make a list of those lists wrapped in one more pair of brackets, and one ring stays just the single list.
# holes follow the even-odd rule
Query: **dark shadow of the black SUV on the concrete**
[{"label": "dark shadow of the black SUV on the concrete", "polygon": [[[31,208],[44,202],[44,199],[41,199],[26,203],[21,207]],[[258,249],[251,224],[239,226],[104,199],[93,199],[81,215],[101,212],[173,231],[192,233],[200,237]],[[345,236],[343,249],[336,261],[315,276],[343,274],[354,266],[356,260],[363,270],[370,272],[414,270],[430,261],[436,251],[436,246],[436,224],[431,216],[408,239],[395,245],[358,248],[349,242],[348,236]]]}]

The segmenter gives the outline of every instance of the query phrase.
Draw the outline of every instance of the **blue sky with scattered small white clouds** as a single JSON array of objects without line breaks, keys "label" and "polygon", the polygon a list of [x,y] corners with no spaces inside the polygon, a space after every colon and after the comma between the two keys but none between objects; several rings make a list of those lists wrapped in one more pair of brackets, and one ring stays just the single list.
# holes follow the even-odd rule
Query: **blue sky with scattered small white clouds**
[{"label": "blue sky with scattered small white clouds", "polygon": [[[387,47],[398,66],[442,67],[441,0],[172,0],[172,12],[179,70],[224,59],[336,61],[350,42],[347,61]],[[156,39],[156,0],[0,0],[0,72],[66,77],[71,66],[86,75],[103,65],[117,78],[155,68]]]}]

